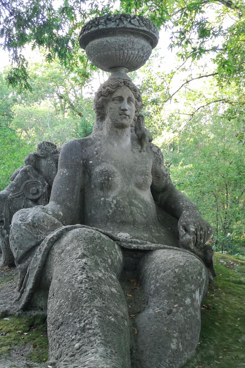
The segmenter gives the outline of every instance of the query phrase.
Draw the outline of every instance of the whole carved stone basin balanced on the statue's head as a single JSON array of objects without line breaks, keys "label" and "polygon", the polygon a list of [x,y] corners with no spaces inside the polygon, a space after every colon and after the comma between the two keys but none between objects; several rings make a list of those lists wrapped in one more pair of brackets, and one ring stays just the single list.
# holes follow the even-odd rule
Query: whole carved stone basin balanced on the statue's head
[{"label": "whole carved stone basin balanced on the statue's head", "polygon": [[111,14],[83,26],[79,44],[89,60],[104,71],[137,70],[157,45],[159,33],[148,19],[133,14]]}]

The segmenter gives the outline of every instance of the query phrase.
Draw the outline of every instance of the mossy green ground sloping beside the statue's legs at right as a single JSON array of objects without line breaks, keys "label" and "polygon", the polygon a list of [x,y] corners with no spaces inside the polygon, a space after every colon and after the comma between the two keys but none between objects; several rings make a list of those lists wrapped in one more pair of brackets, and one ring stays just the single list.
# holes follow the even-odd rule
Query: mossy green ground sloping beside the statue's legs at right
[{"label": "mossy green ground sloping beside the statue's legs at right", "polygon": [[197,353],[182,368],[245,367],[245,261],[216,253],[215,267]]}]

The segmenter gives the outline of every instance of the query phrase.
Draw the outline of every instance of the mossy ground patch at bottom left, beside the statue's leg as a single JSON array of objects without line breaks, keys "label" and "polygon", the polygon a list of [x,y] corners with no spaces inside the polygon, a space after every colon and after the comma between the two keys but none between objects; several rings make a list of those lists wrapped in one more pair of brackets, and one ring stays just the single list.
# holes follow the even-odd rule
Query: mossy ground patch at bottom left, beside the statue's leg
[{"label": "mossy ground patch at bottom left, beside the statue's leg", "polygon": [[47,361],[46,316],[4,318],[0,319],[0,355],[7,358],[11,350],[19,347],[26,352],[26,357],[31,361],[36,363]]}]

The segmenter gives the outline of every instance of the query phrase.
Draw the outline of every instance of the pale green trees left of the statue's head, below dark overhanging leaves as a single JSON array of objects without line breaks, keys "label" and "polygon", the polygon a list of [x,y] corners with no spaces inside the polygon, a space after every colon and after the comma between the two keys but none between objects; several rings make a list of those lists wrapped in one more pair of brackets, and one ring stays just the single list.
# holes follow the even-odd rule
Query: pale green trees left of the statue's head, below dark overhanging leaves
[{"label": "pale green trees left of the statue's head, below dark overhanging leaves", "polygon": [[0,74],[0,190],[43,140],[61,146],[91,134],[93,101],[83,99],[78,77],[55,60],[29,67],[31,91],[12,89]]}]

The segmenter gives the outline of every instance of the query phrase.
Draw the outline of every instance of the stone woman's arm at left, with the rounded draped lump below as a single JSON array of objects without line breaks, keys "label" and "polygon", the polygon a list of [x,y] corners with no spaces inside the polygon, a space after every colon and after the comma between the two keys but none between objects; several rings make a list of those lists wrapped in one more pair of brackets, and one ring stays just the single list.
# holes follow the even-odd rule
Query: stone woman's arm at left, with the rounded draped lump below
[{"label": "stone woman's arm at left, with the rounded draped lump below", "polygon": [[54,230],[78,223],[83,171],[80,145],[78,139],[63,146],[49,204],[24,208],[14,214],[10,245],[17,266],[29,264],[37,247]]}]

